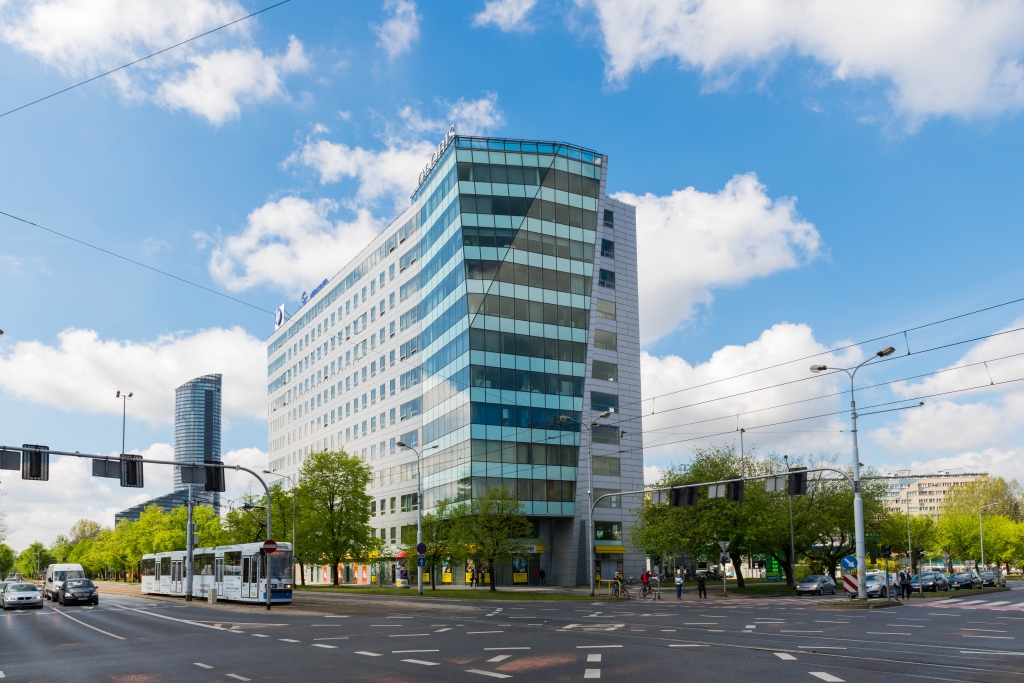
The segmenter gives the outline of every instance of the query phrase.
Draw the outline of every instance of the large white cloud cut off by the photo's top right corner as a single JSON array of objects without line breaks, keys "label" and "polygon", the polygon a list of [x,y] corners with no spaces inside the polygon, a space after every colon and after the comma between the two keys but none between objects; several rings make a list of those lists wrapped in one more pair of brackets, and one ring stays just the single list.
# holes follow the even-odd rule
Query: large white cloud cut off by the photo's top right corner
[{"label": "large white cloud cut off by the photo's top right corner", "polygon": [[578,0],[596,9],[606,76],[625,83],[660,59],[708,89],[745,70],[809,57],[837,81],[883,82],[895,112],[976,117],[1024,106],[1020,0]]}]

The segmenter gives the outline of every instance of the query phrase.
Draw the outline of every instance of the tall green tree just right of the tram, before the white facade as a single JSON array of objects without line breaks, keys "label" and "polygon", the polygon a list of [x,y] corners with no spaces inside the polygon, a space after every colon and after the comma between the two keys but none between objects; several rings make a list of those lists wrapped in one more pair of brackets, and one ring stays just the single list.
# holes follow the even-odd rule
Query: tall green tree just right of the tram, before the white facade
[{"label": "tall green tree just right of the tram, before the white facade", "polygon": [[310,454],[299,470],[299,500],[308,515],[306,545],[317,559],[331,560],[332,583],[339,583],[343,559],[367,556],[370,527],[370,466],[344,451]]}]

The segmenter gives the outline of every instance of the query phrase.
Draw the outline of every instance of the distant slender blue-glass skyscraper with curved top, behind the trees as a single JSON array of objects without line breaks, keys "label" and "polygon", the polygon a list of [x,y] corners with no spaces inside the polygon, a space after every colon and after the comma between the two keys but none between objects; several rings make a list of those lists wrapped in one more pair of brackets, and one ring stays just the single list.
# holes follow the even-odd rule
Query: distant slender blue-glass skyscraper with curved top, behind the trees
[{"label": "distant slender blue-glass skyscraper with curved top, behind the trees", "polygon": [[[182,464],[220,462],[220,375],[204,375],[174,390],[174,461]],[[181,470],[174,468],[174,490],[193,487],[194,496],[203,484],[181,483]],[[209,497],[207,497],[209,498]],[[220,509],[220,494],[213,494]]]}]

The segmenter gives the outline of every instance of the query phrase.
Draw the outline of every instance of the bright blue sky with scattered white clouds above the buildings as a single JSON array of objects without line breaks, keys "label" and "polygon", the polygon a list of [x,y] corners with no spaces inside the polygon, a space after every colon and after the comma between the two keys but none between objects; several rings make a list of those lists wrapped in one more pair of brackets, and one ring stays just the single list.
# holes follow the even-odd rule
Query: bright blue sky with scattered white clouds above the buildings
[{"label": "bright blue sky with scattered white clouds above the buildings", "polygon": [[[272,4],[0,0],[0,115]],[[121,390],[127,450],[169,457],[174,388],[221,373],[224,460],[265,467],[267,311],[455,124],[606,154],[636,205],[649,480],[739,428],[848,459],[849,380],[809,366],[888,345],[865,464],[1024,477],[1024,302],[931,325],[1024,297],[1022,57],[1020,0],[291,0],[0,116],[0,211],[212,290],[0,215],[0,444],[117,454]],[[3,472],[7,543],[158,469]]]}]

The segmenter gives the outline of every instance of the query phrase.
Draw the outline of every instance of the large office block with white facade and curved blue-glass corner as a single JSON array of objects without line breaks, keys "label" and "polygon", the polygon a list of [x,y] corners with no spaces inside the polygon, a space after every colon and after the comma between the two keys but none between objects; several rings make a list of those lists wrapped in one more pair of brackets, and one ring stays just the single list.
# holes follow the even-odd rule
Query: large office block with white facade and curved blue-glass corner
[{"label": "large office block with white facade and curved blue-glass corner", "polygon": [[[499,485],[521,501],[536,552],[499,583],[587,583],[591,475],[595,498],[643,485],[635,209],[607,170],[572,144],[450,133],[411,207],[267,341],[268,468],[362,456],[375,532],[397,544],[421,503],[404,442],[425,510]],[[642,570],[637,504],[595,513],[605,578]]]}]

